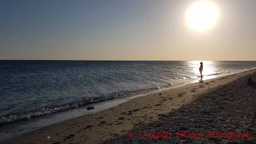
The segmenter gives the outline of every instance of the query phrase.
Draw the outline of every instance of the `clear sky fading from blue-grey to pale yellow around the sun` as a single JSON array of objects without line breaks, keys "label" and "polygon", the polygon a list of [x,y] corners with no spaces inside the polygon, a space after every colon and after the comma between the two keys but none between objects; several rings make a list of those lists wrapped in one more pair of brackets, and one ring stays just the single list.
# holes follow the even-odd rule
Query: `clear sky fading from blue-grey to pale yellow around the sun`
[{"label": "clear sky fading from blue-grey to pale yellow around the sun", "polygon": [[191,29],[193,0],[1,0],[0,59],[256,60],[256,0],[215,0]]}]

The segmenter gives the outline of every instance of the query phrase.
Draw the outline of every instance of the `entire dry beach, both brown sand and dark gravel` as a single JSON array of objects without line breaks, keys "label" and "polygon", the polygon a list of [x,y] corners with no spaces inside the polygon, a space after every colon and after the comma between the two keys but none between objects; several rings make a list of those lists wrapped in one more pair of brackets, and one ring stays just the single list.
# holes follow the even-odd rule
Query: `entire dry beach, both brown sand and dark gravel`
[{"label": "entire dry beach, both brown sand and dark gravel", "polygon": [[[144,131],[247,131],[255,132],[255,87],[246,84],[256,69],[166,88],[132,99],[111,109],[41,128],[3,144],[153,143],[140,138]],[[255,81],[256,77],[253,77]],[[218,101],[216,101],[218,100]],[[233,106],[232,106],[233,105]],[[213,108],[214,107],[214,108]],[[230,109],[234,109],[233,111]],[[220,123],[221,122],[221,123]],[[194,124],[194,125],[192,125]],[[128,136],[129,132],[134,137]],[[167,139],[166,139],[167,140]],[[166,141],[165,140],[165,141]],[[221,139],[168,139],[171,142],[221,143]],[[164,140],[159,141],[164,143]],[[255,142],[235,140],[238,143]],[[158,142],[158,141],[157,141]],[[226,141],[224,142],[226,143]]]}]

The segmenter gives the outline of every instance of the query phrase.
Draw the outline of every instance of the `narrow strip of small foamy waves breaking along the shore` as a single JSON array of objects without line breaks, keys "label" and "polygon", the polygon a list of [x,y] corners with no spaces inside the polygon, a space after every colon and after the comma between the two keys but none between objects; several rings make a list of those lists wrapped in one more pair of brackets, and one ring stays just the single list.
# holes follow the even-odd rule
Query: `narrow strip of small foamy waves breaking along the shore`
[{"label": "narrow strip of small foamy waves breaking along the shore", "polygon": [[[253,68],[249,68],[249,69],[253,69]],[[249,70],[249,69],[243,69],[243,70]],[[227,72],[226,74],[215,73],[215,74],[211,74],[211,75],[206,75],[206,76],[204,76],[204,79],[211,79],[211,78],[215,78],[215,77],[221,77],[221,76],[224,76],[224,75],[230,75],[230,74],[241,72],[241,70],[240,71],[239,70],[233,70],[233,71],[234,72],[231,72],[231,73]],[[184,78],[180,78],[180,79],[184,79]],[[190,81],[189,83],[194,83],[194,82],[197,82],[197,80]],[[185,84],[189,84],[189,83],[185,83]],[[182,85],[182,83],[180,83],[180,85]],[[176,85],[176,86],[180,86],[180,85]],[[43,115],[47,115],[47,114],[52,114],[52,113],[56,113],[56,112],[60,112],[60,111],[73,109],[73,108],[79,108],[79,107],[82,107],[82,106],[85,106],[85,105],[92,105],[92,104],[95,105],[95,103],[103,102],[103,101],[107,101],[107,100],[112,100],[112,99],[116,99],[116,98],[124,98],[124,97],[129,98],[131,96],[147,94],[147,93],[158,91],[158,90],[163,89],[163,88],[170,88],[170,87],[173,87],[173,86],[174,85],[172,83],[168,83],[168,85],[165,85],[164,87],[161,87],[161,88],[156,85],[155,88],[149,88],[149,89],[137,90],[137,91],[131,91],[131,92],[127,92],[127,91],[126,92],[120,92],[120,93],[117,93],[117,94],[113,94],[112,96],[107,97],[107,98],[101,98],[101,97],[87,98],[85,100],[81,100],[81,101],[78,101],[78,102],[75,102],[75,103],[67,103],[67,104],[62,104],[62,105],[58,105],[58,106],[54,106],[54,107],[44,107],[44,108],[41,108],[41,109],[29,111],[29,112],[26,112],[26,113],[2,115],[2,116],[0,116],[0,125],[4,124],[4,123],[16,122],[16,121],[20,121],[20,120],[24,120],[24,119],[32,119],[34,117],[43,116]]]}]

